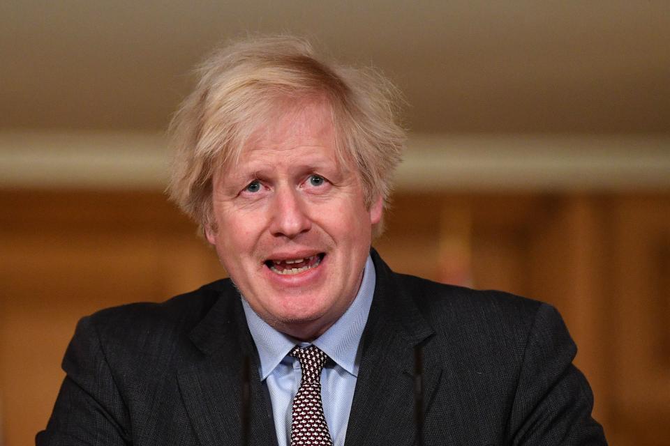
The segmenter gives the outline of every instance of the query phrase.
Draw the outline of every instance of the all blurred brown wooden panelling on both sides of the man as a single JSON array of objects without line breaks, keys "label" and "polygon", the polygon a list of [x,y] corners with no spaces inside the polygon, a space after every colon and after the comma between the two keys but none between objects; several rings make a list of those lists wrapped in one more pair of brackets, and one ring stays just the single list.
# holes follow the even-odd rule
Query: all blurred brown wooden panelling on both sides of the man
[{"label": "all blurred brown wooden panelling on both sides of the man", "polygon": [[[223,277],[195,226],[147,192],[0,191],[0,420],[33,443],[76,321]],[[670,438],[670,194],[399,194],[392,268],[556,305],[611,444]]]}]

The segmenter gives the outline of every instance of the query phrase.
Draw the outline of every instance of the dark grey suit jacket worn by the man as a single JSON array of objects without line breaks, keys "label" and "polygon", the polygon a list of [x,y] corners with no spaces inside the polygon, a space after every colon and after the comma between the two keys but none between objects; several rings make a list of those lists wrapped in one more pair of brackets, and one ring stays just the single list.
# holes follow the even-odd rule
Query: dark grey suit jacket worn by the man
[{"label": "dark grey suit jacket worn by the man", "polygon": [[[415,443],[415,346],[423,352],[423,444],[605,445],[576,347],[553,307],[389,270],[364,330],[346,445]],[[241,443],[241,364],[258,354],[229,280],[162,304],[83,318],[37,445]],[[276,443],[251,380],[251,445]]]}]

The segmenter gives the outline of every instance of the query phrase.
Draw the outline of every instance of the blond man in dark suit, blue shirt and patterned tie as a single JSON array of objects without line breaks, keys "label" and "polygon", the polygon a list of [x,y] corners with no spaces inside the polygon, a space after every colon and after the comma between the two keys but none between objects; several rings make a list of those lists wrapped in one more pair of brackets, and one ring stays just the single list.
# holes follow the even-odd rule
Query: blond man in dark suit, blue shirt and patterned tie
[{"label": "blond man in dark suit, blue shirt and patterned tie", "polygon": [[295,38],[211,56],[170,194],[230,279],[82,319],[38,445],[604,445],[553,308],[371,250],[393,93]]}]

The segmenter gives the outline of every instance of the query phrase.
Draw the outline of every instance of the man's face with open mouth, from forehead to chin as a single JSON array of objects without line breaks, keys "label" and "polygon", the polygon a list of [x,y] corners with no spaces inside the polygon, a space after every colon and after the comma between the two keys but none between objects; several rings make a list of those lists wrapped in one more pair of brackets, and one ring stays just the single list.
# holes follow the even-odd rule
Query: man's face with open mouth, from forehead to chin
[{"label": "man's face with open mouth, from forehead to chin", "polygon": [[327,109],[306,105],[260,128],[213,186],[207,240],[249,305],[298,339],[325,332],[358,292],[382,214],[338,162]]}]

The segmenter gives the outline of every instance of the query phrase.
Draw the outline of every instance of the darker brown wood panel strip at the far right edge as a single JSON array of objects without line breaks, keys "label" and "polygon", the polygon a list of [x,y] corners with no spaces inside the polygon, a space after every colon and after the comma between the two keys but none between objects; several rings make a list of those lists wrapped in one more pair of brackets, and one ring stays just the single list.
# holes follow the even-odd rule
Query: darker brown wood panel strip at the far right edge
[{"label": "darker brown wood panel strip at the far right edge", "polygon": [[613,426],[630,444],[668,445],[670,203],[623,197],[613,217]]}]

